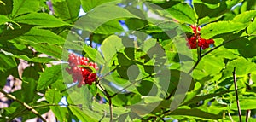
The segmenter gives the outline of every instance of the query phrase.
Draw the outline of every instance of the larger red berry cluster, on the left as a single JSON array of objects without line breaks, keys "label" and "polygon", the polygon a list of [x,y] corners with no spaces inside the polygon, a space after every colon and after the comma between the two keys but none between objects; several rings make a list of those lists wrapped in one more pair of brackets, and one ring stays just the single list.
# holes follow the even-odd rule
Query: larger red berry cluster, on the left
[{"label": "larger red berry cluster, on the left", "polygon": [[77,56],[74,54],[68,55],[68,66],[66,68],[67,73],[72,74],[73,82],[79,82],[78,87],[81,87],[85,84],[92,84],[96,81],[96,73],[92,73],[90,67],[99,69],[97,64],[94,62],[89,62],[89,58]]}]

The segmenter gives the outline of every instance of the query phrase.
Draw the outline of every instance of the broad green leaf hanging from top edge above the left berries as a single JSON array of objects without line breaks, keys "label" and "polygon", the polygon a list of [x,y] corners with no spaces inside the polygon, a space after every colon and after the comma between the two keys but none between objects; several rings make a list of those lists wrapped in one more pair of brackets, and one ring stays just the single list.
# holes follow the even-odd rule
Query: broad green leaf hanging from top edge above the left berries
[{"label": "broad green leaf hanging from top edge above the left berries", "polygon": [[75,22],[79,17],[80,0],[52,0],[54,14],[68,22]]}]

